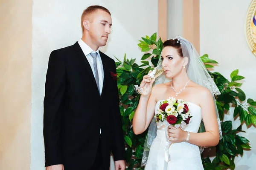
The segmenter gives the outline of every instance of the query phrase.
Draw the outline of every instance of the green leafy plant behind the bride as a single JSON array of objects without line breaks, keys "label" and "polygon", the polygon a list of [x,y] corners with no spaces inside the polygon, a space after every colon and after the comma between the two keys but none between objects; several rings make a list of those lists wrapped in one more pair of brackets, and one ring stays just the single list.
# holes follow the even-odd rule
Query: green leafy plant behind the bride
[{"label": "green leafy plant behind the bride", "polygon": [[[143,76],[146,75],[152,67],[157,65],[163,49],[163,42],[161,38],[157,41],[156,39],[157,34],[154,33],[151,37],[142,37],[142,40],[140,40],[138,46],[141,48],[142,52],[147,52],[141,58],[141,65],[135,63],[135,59],[127,59],[126,55],[123,61],[116,58],[117,84],[119,88],[120,112],[122,115],[122,129],[125,138],[128,170],[143,170],[140,164],[147,131],[140,135],[135,135],[132,130],[132,119],[140,99],[140,95],[134,92],[133,86],[140,84]],[[151,64],[149,61],[145,61],[149,59]],[[211,60],[207,54],[203,55],[201,59],[206,68],[213,68],[212,63],[218,63]],[[219,72],[208,72],[221,92],[221,95],[215,96],[215,98],[222,121],[221,128],[223,138],[216,146],[216,157],[213,161],[211,161],[209,157],[203,158],[202,156],[202,162],[205,170],[222,170],[227,168],[233,170],[235,168],[235,157],[239,154],[242,156],[244,149],[250,149],[249,141],[239,136],[238,133],[244,132],[241,130],[243,123],[247,126],[251,124],[256,125],[256,101],[249,98],[247,102],[245,102],[246,95],[240,89],[242,83],[237,82],[244,79],[244,77],[238,75],[238,69],[231,73],[230,81],[224,78]],[[241,120],[241,125],[234,130],[232,121],[223,122],[224,114],[230,110],[230,107],[235,108],[233,113],[234,119],[240,118]]]}]

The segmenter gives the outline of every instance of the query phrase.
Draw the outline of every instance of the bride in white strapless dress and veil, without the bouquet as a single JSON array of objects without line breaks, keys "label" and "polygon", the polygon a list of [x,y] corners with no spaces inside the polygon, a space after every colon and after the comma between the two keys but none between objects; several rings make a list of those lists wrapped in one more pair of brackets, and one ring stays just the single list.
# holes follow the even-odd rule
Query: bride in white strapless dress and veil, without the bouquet
[{"label": "bride in white strapless dress and veil, without the bouquet", "polygon": [[[140,103],[133,118],[135,134],[143,133],[150,125],[142,166],[145,165],[145,170],[204,170],[200,151],[216,146],[222,138],[214,98],[214,94],[220,92],[195,47],[183,37],[163,43],[158,66],[163,68],[164,74],[156,80],[149,75],[143,77]],[[185,128],[167,127],[153,118],[161,101],[169,97],[189,104],[192,118]],[[198,133],[201,120],[205,132]],[[171,144],[166,150],[167,135]]]}]

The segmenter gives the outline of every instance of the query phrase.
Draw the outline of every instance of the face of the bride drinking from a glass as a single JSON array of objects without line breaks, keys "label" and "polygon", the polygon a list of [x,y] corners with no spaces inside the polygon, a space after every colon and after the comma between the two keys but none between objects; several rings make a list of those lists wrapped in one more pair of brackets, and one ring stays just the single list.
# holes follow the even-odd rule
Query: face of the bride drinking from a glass
[{"label": "face of the bride drinking from a glass", "polygon": [[[178,55],[177,49],[172,46],[166,46],[162,51],[162,66],[166,78],[174,78],[182,72],[185,60]],[[185,69],[184,69],[185,70]]]}]

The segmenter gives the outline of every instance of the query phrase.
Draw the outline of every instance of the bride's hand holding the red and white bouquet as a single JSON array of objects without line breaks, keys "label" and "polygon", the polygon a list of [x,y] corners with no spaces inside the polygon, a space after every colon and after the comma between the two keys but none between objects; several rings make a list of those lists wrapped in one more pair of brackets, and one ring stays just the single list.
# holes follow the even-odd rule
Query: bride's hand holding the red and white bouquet
[{"label": "bride's hand holding the red and white bouquet", "polygon": [[186,141],[187,132],[181,128],[176,128],[170,125],[168,127],[168,136],[169,141],[172,141],[172,143],[180,143]]}]

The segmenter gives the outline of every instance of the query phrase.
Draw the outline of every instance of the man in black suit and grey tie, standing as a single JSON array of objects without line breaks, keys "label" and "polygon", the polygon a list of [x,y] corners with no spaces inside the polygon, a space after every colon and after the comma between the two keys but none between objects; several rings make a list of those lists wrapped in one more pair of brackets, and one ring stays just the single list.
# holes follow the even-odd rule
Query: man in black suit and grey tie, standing
[{"label": "man in black suit and grey tie, standing", "polygon": [[111,32],[108,9],[89,6],[81,16],[82,38],[49,57],[44,98],[47,170],[125,170],[116,66],[99,51]]}]

